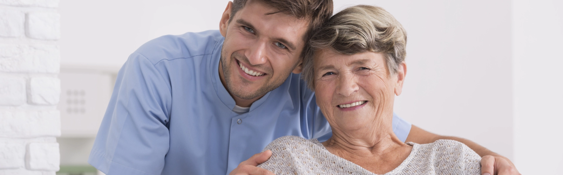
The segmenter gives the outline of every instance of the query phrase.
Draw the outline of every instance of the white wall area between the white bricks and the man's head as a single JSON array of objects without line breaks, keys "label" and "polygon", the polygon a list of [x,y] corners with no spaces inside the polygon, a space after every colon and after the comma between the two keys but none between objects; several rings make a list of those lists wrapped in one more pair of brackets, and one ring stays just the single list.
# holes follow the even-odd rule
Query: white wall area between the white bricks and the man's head
[{"label": "white wall area between the white bricks and the man's head", "polygon": [[121,67],[158,36],[218,29],[227,2],[61,0],[61,63]]}]

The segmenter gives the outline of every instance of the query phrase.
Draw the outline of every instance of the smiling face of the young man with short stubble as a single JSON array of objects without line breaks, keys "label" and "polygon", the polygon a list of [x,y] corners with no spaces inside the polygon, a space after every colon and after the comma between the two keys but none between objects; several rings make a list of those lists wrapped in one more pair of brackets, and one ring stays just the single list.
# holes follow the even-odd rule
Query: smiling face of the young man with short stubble
[{"label": "smiling face of the young man with short stubble", "polygon": [[282,13],[265,15],[272,11],[248,1],[221,30],[222,72],[227,89],[239,98],[257,98],[282,85],[292,71],[301,72],[297,65],[308,21]]}]

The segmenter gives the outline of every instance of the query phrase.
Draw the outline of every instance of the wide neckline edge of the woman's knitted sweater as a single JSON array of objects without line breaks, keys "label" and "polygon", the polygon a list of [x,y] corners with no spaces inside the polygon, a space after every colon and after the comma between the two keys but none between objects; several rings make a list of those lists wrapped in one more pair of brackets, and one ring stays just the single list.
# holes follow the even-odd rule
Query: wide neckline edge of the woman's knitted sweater
[{"label": "wide neckline edge of the woman's knitted sweater", "polygon": [[[344,159],[344,158],[341,158],[341,157],[339,157],[339,156],[337,156],[337,155],[334,155],[334,154],[330,153],[330,151],[328,151],[327,148],[325,148],[324,145],[323,145],[321,142],[319,142],[318,139],[311,139],[311,141],[312,141],[315,145],[319,146],[320,149],[321,149],[321,151],[324,151],[325,154],[328,154],[328,156],[332,156],[334,159],[337,159],[337,160],[340,160],[340,161],[342,161],[342,162],[346,162],[346,163],[348,163],[348,164],[354,165],[354,166],[355,166],[355,169],[360,169],[360,170],[363,171],[364,173],[373,174],[373,175],[379,175],[379,174],[370,172],[370,171],[368,171],[367,169],[365,169],[365,168],[363,168],[363,167],[360,167],[360,165],[358,165],[358,164],[355,164],[355,163],[350,162],[350,161],[348,161],[348,160],[346,160],[346,159]],[[406,167],[406,165],[408,165],[408,164],[414,159],[414,156],[418,153],[418,150],[420,149],[420,145],[419,145],[419,144],[415,144],[414,142],[406,142],[406,144],[407,144],[407,145],[410,145],[410,146],[413,146],[413,149],[410,150],[409,156],[407,156],[406,159],[403,160],[403,162],[401,162],[401,164],[399,165],[399,167],[393,169],[393,170],[390,171],[390,172],[387,172],[387,173],[381,174],[381,175],[397,174],[397,173],[403,171],[403,169]]]}]

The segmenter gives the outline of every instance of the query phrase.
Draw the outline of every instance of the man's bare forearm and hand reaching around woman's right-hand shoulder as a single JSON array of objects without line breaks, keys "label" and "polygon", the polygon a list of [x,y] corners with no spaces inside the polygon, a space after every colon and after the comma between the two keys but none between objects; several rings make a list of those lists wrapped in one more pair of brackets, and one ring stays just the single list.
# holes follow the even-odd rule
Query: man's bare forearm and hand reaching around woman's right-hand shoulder
[{"label": "man's bare forearm and hand reaching around woman's right-hand shoulder", "polygon": [[435,133],[431,133],[417,126],[412,126],[410,128],[409,136],[406,137],[405,142],[415,142],[417,144],[429,144],[431,142],[435,142],[436,140],[445,139],[445,140],[455,140],[462,142],[463,144],[467,145],[471,148],[475,153],[481,156],[481,169],[482,174],[520,174],[517,170],[515,165],[510,161],[510,159],[494,153],[485,147],[476,144],[475,142],[467,139],[462,139],[459,137],[453,136],[441,136]]}]

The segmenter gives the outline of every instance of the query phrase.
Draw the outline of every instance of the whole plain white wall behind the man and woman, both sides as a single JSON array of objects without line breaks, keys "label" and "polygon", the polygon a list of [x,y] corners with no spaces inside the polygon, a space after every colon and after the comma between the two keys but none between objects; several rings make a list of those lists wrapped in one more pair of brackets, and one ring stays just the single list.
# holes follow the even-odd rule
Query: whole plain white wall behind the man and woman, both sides
[{"label": "whole plain white wall behind the man and woman, both sides", "polygon": [[[543,149],[542,156],[531,151],[537,148],[531,138],[550,142],[561,138],[561,130],[551,127],[561,123],[562,96],[556,91],[563,89],[561,69],[556,68],[563,60],[556,54],[562,40],[561,23],[556,23],[561,21],[561,2],[334,3],[336,10],[361,3],[381,6],[404,25],[408,76],[395,104],[401,117],[431,132],[476,141],[515,160],[523,174],[535,174],[526,167],[538,167],[540,162],[528,166],[537,158],[563,164],[549,149]],[[61,63],[120,67],[150,39],[218,29],[226,4],[226,0],[62,0]],[[530,63],[531,59],[539,62]]]}]

